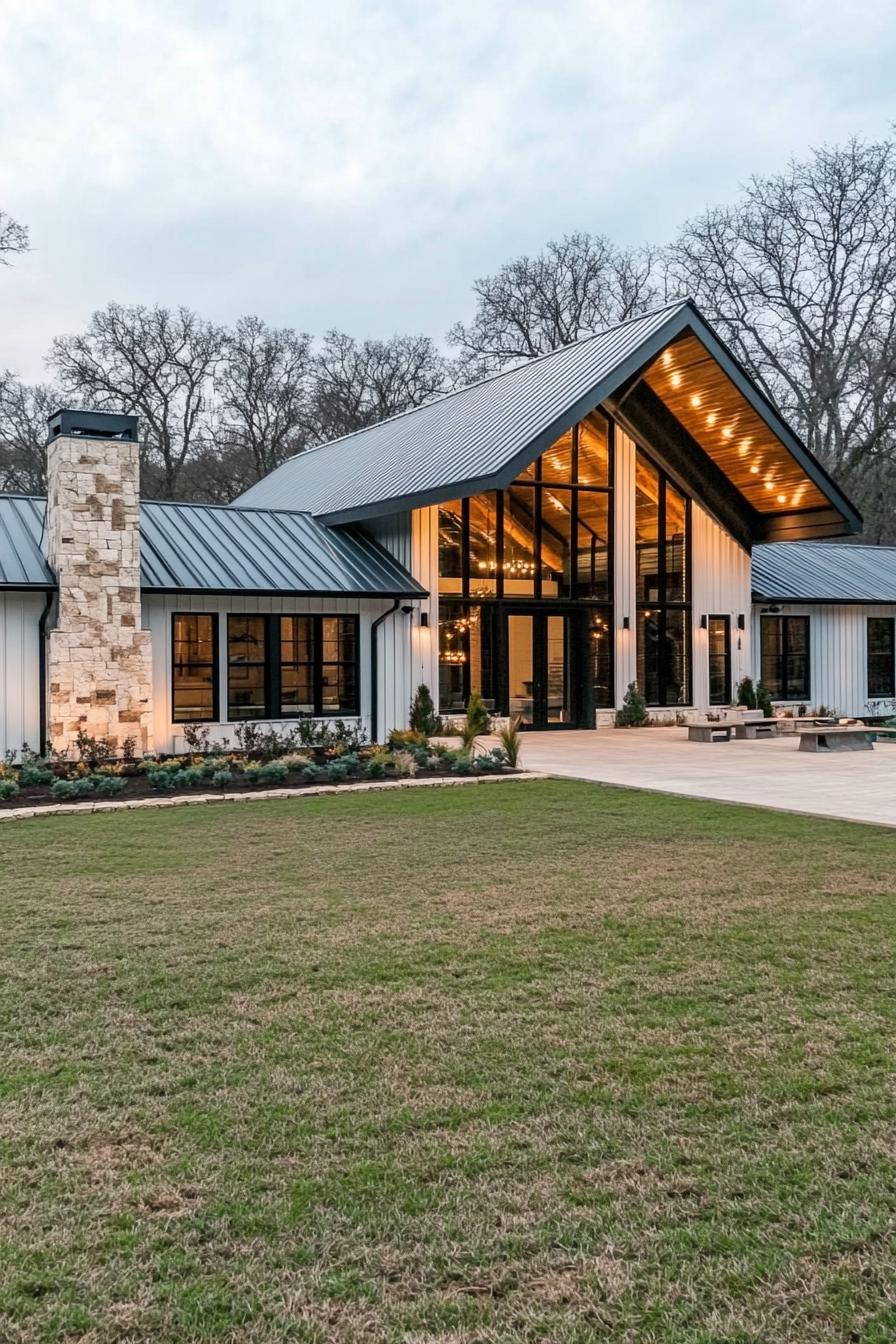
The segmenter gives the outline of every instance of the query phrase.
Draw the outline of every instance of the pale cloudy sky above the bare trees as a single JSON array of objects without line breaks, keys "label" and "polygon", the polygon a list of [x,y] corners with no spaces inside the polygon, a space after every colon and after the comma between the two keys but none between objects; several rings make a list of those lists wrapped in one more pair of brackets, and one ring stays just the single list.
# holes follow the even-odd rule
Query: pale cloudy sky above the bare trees
[{"label": "pale cloudy sky above the bare trees", "polygon": [[0,0],[0,367],[109,300],[441,337],[551,237],[884,134],[893,70],[892,0]]}]

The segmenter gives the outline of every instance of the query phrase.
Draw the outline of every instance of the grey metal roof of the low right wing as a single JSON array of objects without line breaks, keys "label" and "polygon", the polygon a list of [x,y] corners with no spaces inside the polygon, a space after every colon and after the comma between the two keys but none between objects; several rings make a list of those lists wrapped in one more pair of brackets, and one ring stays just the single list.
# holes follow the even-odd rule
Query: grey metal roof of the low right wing
[{"label": "grey metal roof of the low right wing", "polygon": [[754,546],[752,591],[758,602],[896,602],[896,547]]}]

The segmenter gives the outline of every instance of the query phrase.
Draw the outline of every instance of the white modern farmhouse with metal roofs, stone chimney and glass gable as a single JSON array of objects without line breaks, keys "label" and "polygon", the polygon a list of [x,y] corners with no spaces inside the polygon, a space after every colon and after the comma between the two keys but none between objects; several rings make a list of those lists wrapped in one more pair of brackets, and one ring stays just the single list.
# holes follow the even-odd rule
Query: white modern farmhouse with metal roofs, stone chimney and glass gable
[{"label": "white modern farmhouse with metal roofs, stone chimney and glass gable", "polygon": [[[799,590],[766,591],[767,566],[758,586],[751,554],[815,554],[861,519],[689,302],[302,453],[232,505],[141,503],[137,462],[133,417],[60,413],[48,499],[0,497],[5,750],[82,730],[173,751],[191,724],[298,716],[383,738],[419,683],[442,714],[478,691],[535,728],[611,723],[635,680],[668,716],[760,671],[782,702],[837,700],[823,655],[799,680]],[[891,675],[895,610],[889,644],[862,644]]]}]

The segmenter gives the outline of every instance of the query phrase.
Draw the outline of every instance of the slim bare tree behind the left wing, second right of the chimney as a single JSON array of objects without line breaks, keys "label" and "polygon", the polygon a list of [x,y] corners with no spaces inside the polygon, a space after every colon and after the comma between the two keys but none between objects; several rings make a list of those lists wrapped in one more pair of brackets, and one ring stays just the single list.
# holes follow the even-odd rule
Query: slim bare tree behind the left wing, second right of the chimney
[{"label": "slim bare tree behind the left wing, second right of the chimney", "polygon": [[218,441],[231,464],[249,468],[249,488],[306,446],[310,433],[312,339],[240,317],[224,339],[216,374]]}]

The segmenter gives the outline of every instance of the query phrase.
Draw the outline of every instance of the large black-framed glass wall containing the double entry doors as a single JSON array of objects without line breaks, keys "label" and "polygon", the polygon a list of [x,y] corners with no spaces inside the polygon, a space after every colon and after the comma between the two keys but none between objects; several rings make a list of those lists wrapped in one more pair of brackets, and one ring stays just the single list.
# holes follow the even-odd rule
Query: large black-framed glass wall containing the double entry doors
[{"label": "large black-framed glass wall containing the double entry doors", "polygon": [[613,430],[594,413],[508,489],[439,507],[443,712],[478,691],[525,718],[539,660],[545,719],[586,722],[613,704],[611,485]]}]

